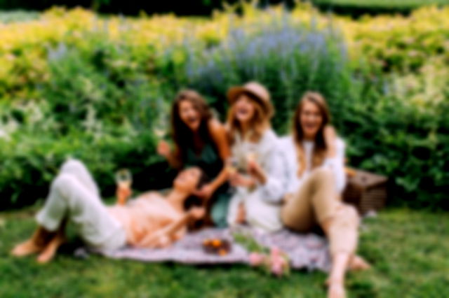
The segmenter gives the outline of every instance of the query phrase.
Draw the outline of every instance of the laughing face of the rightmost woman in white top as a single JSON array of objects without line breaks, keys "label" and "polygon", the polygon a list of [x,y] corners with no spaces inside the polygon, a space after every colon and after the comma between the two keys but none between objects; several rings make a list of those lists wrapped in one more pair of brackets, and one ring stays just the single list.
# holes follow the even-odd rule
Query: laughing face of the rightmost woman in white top
[{"label": "laughing face of the rightmost woman in white top", "polygon": [[304,101],[299,119],[305,139],[314,140],[323,126],[323,113],[312,101]]}]

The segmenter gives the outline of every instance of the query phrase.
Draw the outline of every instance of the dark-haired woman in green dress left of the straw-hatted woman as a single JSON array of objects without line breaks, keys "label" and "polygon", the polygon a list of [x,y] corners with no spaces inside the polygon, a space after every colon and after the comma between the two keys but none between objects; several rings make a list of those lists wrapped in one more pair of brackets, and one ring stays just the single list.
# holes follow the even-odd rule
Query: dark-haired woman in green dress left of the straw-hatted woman
[{"label": "dark-haired woman in green dress left of the straw-hatted woman", "polygon": [[199,166],[206,173],[210,183],[195,195],[210,207],[214,225],[226,227],[231,193],[225,170],[225,161],[230,155],[225,127],[213,118],[206,101],[194,90],[177,94],[171,119],[175,148],[172,150],[166,141],[160,141],[159,155],[166,157],[175,169]]}]

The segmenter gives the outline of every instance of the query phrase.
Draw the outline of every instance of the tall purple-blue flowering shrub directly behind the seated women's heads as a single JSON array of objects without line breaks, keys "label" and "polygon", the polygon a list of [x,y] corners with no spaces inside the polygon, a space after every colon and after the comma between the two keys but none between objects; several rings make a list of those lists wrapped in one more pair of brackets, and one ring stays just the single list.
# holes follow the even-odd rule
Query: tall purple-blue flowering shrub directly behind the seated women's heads
[{"label": "tall purple-blue flowering shrub directly behind the seated women's heads", "polygon": [[290,129],[291,115],[307,90],[319,90],[334,114],[343,113],[351,97],[344,41],[332,28],[317,29],[314,21],[305,27],[286,14],[271,24],[235,29],[220,45],[186,52],[185,77],[179,80],[206,94],[220,115],[226,115],[229,87],[260,81],[272,94],[272,121],[279,132]]}]

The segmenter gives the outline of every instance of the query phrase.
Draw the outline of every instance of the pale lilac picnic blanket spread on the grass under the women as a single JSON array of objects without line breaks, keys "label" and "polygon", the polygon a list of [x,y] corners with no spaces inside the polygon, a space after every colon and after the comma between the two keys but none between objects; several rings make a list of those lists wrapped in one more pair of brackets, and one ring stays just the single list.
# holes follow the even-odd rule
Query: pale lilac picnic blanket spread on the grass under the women
[{"label": "pale lilac picnic blanket spread on the grass under the women", "polygon": [[[330,255],[326,239],[316,234],[297,234],[283,229],[273,234],[249,230],[250,235],[267,248],[277,247],[290,257],[293,269],[329,271]],[[220,256],[206,253],[202,243],[205,239],[232,241],[229,254]],[[125,247],[114,251],[97,252],[113,259],[130,259],[142,262],[179,262],[183,264],[248,264],[249,252],[233,241],[229,229],[202,229],[187,234],[168,248],[149,249]]]}]

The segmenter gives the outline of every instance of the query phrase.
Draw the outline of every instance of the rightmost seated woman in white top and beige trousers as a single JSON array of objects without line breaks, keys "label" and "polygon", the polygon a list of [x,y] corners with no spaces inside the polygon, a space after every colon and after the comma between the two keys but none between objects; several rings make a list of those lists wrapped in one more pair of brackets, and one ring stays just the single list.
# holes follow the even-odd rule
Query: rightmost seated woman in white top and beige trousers
[{"label": "rightmost seated woman in white top and beige trousers", "polygon": [[280,141],[286,177],[281,220],[298,232],[316,225],[323,229],[332,257],[328,297],[345,297],[347,268],[366,269],[368,264],[355,256],[359,219],[354,207],[341,201],[346,183],[344,143],[329,122],[321,94],[304,94],[293,118],[293,134]]}]

